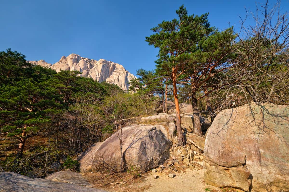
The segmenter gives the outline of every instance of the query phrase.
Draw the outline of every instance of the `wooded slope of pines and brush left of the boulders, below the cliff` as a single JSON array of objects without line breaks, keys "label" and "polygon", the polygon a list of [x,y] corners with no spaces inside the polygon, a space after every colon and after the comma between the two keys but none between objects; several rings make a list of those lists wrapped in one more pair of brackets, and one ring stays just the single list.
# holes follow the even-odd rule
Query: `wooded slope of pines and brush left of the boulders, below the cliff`
[{"label": "wooded slope of pines and brush left of the boulders, below the cliff", "polygon": [[27,174],[38,168],[48,174],[51,164],[104,140],[114,132],[111,112],[118,113],[112,100],[123,109],[121,119],[151,112],[140,94],[78,77],[79,71],[56,73],[34,66],[17,51],[0,52],[0,65],[0,151],[5,171]]}]

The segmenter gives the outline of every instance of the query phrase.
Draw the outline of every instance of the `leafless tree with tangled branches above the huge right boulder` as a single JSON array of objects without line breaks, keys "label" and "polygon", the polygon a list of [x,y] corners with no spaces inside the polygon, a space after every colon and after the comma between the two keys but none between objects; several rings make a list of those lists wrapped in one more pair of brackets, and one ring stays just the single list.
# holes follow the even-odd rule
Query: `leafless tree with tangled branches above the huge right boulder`
[{"label": "leafless tree with tangled branches above the huge right boulder", "polygon": [[[256,12],[241,18],[240,31],[233,42],[236,58],[218,82],[223,86],[215,98],[224,109],[249,102],[289,102],[289,20],[281,13],[280,1],[260,4]],[[253,19],[254,25],[246,25]]]}]

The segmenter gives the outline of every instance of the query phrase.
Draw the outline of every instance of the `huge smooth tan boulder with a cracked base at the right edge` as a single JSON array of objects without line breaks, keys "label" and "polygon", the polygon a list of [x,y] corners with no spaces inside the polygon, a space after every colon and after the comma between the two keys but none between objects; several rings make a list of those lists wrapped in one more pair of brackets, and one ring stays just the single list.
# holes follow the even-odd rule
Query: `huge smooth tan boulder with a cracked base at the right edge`
[{"label": "huge smooth tan boulder with a cracked base at the right edge", "polygon": [[289,107],[251,103],[221,111],[208,130],[205,182],[244,191],[289,191]]}]

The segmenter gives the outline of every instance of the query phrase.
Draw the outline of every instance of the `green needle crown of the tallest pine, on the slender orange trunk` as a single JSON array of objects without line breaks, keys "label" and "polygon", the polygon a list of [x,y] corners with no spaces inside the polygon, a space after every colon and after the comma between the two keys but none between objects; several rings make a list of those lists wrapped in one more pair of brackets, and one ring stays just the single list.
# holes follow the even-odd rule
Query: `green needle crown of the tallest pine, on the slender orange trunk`
[{"label": "green needle crown of the tallest pine, on the slender orange trunk", "polygon": [[178,19],[163,21],[151,28],[155,34],[146,37],[149,45],[159,47],[156,72],[161,75],[181,73],[191,59],[189,53],[199,52],[198,43],[214,31],[208,22],[208,14],[189,16],[184,5],[176,13]]}]

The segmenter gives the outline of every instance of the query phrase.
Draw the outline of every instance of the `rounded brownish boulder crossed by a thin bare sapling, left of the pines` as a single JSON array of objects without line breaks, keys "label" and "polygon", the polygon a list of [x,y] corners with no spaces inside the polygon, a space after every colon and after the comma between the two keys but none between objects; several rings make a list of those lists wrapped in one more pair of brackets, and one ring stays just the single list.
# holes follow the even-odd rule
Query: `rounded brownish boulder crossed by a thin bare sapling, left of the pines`
[{"label": "rounded brownish boulder crossed by a thin bare sapling, left of the pines", "polygon": [[[124,127],[122,129],[122,146],[125,166],[147,170],[163,164],[169,158],[171,144],[166,133],[167,130],[162,125],[136,124]],[[112,166],[120,165],[121,153],[117,132],[85,152],[79,161],[81,172],[91,171],[99,160]]]}]

